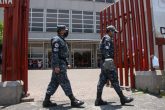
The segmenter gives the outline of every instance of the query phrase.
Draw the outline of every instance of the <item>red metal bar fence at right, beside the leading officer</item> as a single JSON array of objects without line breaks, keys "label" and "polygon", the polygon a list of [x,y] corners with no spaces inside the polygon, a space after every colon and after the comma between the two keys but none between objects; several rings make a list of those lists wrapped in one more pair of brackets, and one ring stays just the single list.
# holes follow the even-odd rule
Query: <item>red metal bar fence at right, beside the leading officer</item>
[{"label": "red metal bar fence at right, beside the leading officer", "polygon": [[[119,0],[100,12],[101,37],[105,34],[107,25],[114,25],[119,31],[114,38],[114,60],[118,67],[120,84],[134,88],[134,71],[154,70],[150,57],[154,55],[155,48],[151,1]],[[162,39],[156,39],[161,70],[164,69],[162,45],[165,44],[165,39]]]}]

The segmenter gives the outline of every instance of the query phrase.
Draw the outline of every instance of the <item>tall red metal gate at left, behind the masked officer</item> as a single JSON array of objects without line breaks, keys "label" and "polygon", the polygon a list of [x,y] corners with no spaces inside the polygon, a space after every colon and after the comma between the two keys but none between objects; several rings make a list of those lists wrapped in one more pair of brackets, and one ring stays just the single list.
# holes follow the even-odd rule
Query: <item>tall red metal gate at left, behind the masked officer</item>
[{"label": "tall red metal gate at left, behind the masked officer", "polygon": [[22,80],[28,91],[29,0],[1,0],[4,8],[2,81]]}]

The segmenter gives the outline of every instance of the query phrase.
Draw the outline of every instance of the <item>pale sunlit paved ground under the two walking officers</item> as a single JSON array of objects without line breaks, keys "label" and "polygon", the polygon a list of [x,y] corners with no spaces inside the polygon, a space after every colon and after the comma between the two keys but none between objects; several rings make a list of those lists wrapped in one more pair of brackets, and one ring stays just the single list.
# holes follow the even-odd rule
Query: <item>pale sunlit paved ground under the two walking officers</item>
[{"label": "pale sunlit paved ground under the two walking officers", "polygon": [[50,81],[51,70],[30,70],[29,71],[29,93],[34,102],[24,102],[8,107],[0,107],[3,110],[165,110],[165,98],[160,98],[142,92],[124,90],[124,94],[134,97],[135,100],[125,106],[120,105],[120,100],[113,88],[105,87],[103,99],[108,101],[106,106],[95,107],[96,85],[99,78],[99,69],[71,69],[68,70],[68,77],[72,89],[78,99],[85,101],[81,108],[72,108],[68,97],[65,96],[61,87],[52,96],[51,100],[58,104],[57,107],[43,108],[47,85]]}]

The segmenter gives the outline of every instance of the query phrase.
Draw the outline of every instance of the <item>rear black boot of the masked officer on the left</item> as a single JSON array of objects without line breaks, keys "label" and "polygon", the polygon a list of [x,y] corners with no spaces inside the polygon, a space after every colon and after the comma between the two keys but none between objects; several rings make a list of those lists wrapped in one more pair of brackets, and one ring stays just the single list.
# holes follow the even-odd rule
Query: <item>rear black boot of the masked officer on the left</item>
[{"label": "rear black boot of the masked officer on the left", "polygon": [[50,101],[50,95],[49,94],[46,94],[45,99],[44,99],[42,105],[43,105],[43,107],[57,106],[56,103],[52,103]]}]

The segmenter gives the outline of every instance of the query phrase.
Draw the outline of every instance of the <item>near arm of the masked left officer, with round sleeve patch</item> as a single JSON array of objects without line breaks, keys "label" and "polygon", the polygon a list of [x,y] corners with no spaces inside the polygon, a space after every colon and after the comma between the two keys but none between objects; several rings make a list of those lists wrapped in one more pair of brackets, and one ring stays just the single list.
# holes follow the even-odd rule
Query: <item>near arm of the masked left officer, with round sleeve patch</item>
[{"label": "near arm of the masked left officer, with round sleeve patch", "polygon": [[57,41],[56,39],[52,39],[51,42],[52,45],[52,68],[59,68],[59,47],[60,47],[60,42]]}]

